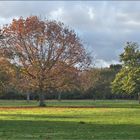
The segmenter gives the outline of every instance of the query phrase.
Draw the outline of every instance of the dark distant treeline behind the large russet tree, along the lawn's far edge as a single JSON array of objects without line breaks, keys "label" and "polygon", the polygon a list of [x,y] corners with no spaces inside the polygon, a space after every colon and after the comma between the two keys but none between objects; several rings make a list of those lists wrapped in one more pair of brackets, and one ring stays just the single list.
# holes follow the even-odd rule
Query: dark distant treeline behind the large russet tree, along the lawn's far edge
[{"label": "dark distant treeline behind the large russet tree, along the lawn's far edge", "polygon": [[[110,65],[109,68],[92,68],[90,70],[91,86],[84,90],[82,88],[71,91],[58,91],[51,89],[45,93],[46,99],[136,99],[134,94],[114,94],[111,91],[111,82],[115,75],[120,71],[121,65]],[[87,81],[87,80],[86,80]],[[86,82],[85,81],[85,82]],[[17,89],[7,89],[0,94],[0,99],[30,99],[38,100],[37,91],[24,93]]]}]

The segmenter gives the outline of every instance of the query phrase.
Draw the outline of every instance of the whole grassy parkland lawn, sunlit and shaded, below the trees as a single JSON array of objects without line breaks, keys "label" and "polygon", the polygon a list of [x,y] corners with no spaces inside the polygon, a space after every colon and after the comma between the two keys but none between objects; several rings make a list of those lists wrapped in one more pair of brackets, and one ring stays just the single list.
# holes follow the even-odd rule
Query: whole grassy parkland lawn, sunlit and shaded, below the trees
[{"label": "whole grassy parkland lawn, sunlit and shaded, below the trees", "polygon": [[140,140],[138,101],[0,100],[0,140]]}]

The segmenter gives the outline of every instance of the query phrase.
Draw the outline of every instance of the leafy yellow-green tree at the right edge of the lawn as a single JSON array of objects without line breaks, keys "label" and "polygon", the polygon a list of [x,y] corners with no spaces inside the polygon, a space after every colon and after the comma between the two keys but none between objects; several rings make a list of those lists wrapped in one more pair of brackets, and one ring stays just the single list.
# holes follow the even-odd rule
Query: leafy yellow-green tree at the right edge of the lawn
[{"label": "leafy yellow-green tree at the right edge of the lawn", "polygon": [[[120,55],[121,71],[112,82],[114,93],[138,94],[140,92],[140,50],[137,43],[128,42]],[[139,95],[140,96],[140,95]],[[139,97],[140,99],[140,97]],[[140,100],[139,100],[140,103]]]}]

